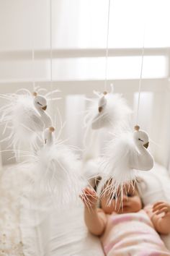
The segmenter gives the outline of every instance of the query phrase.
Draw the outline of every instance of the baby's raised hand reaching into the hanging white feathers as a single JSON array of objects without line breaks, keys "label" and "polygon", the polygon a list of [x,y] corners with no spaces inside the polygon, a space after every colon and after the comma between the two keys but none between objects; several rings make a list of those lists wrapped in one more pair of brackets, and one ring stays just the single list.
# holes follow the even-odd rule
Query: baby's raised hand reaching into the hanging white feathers
[{"label": "baby's raised hand reaching into the hanging white feathers", "polygon": [[86,187],[80,197],[86,208],[96,208],[98,196],[94,189]]}]

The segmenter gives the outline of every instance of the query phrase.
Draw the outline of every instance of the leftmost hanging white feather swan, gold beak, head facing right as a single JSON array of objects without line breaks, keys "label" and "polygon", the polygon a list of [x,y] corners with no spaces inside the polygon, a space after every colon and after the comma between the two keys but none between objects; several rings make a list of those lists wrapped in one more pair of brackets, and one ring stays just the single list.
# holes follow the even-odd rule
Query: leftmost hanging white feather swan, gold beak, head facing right
[{"label": "leftmost hanging white feather swan, gold beak, head facing right", "polygon": [[5,127],[3,134],[9,129],[9,135],[3,141],[9,141],[14,152],[18,152],[23,142],[36,150],[43,130],[52,126],[52,120],[46,112],[48,103],[45,96],[37,93],[32,95],[29,90],[22,89],[0,97],[9,101],[0,108],[0,123]]}]

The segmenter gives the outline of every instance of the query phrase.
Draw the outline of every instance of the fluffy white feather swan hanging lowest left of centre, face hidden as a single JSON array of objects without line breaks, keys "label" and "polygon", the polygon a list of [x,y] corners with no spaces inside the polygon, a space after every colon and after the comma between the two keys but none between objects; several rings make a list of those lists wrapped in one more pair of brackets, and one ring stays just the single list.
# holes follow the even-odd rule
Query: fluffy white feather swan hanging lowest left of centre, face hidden
[{"label": "fluffy white feather swan hanging lowest left of centre, face hidden", "polygon": [[45,193],[58,207],[76,200],[84,187],[84,179],[73,148],[55,141],[54,131],[53,127],[45,129],[45,145],[33,159],[32,191],[36,195]]}]

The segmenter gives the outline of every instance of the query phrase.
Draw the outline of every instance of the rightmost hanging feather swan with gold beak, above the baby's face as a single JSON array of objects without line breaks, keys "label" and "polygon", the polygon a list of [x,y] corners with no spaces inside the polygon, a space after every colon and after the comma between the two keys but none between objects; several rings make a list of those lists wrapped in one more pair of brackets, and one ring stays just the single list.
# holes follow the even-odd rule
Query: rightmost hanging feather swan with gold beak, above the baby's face
[{"label": "rightmost hanging feather swan with gold beak, above the baby's face", "polygon": [[[122,132],[114,136],[107,146],[101,163],[102,184],[108,183],[102,193],[110,192],[109,202],[127,183],[134,184],[138,171],[149,171],[153,168],[153,156],[148,151],[148,134],[135,126],[135,132]],[[109,182],[107,182],[109,181]]]}]

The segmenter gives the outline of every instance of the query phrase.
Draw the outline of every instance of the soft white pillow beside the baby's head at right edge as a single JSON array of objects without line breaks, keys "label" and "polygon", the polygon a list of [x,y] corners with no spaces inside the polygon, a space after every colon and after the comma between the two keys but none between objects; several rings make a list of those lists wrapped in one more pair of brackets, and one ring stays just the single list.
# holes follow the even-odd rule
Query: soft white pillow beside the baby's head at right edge
[{"label": "soft white pillow beside the baby's head at right edge", "polygon": [[[170,176],[166,168],[155,163],[151,171],[140,172],[140,177],[142,182],[138,184],[138,189],[144,205],[159,200],[170,203]],[[161,239],[170,250],[170,234],[161,235]]]}]

